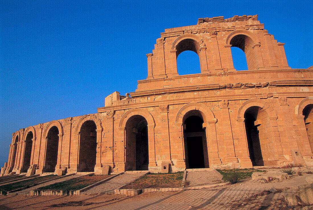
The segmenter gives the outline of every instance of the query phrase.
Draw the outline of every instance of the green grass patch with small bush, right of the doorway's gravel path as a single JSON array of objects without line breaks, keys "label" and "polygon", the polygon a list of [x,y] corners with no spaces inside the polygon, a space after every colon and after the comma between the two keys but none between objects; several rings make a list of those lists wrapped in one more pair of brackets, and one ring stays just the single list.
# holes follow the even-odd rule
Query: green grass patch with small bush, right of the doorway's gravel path
[{"label": "green grass patch with small bush, right of the doorway's gravel path", "polygon": [[266,172],[254,168],[217,169],[217,171],[223,176],[223,180],[225,182],[228,182],[230,179],[234,179],[236,177],[238,177],[238,181],[241,179],[249,178],[252,176],[253,172]]}]

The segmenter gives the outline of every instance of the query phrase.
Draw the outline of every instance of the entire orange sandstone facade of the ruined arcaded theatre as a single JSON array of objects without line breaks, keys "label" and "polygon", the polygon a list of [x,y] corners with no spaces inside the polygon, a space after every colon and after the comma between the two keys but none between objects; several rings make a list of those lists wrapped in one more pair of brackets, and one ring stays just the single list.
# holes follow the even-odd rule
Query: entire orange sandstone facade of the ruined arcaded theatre
[{"label": "entire orange sandstone facade of the ruined arcaded theatre", "polygon": [[[135,92],[112,93],[95,114],[16,131],[1,174],[33,164],[36,173],[313,166],[313,70],[291,69],[283,45],[257,15],[166,29]],[[247,71],[234,69],[231,47],[244,51]],[[178,75],[185,50],[198,54],[200,74]]]}]

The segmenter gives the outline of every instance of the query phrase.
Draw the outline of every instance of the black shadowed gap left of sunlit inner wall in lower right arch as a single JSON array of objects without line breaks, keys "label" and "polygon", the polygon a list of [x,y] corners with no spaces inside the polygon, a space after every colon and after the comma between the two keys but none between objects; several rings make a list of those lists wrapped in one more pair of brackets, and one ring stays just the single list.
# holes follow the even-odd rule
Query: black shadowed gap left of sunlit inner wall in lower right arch
[{"label": "black shadowed gap left of sunlit inner wall in lower right arch", "polygon": [[253,166],[264,166],[259,130],[255,124],[259,107],[250,107],[244,114],[244,123],[246,127],[248,149],[250,154],[250,160]]}]

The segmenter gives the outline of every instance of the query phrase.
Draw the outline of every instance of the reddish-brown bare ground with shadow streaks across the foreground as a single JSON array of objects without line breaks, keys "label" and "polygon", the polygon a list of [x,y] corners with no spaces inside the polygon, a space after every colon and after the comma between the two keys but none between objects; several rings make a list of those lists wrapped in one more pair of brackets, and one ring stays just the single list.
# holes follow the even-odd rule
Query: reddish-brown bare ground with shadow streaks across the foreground
[{"label": "reddish-brown bare ground with shadow streaks across the foreground", "polygon": [[[296,192],[304,176],[283,182],[254,180],[208,189],[150,192],[134,197],[88,194],[79,196],[0,196],[0,209],[300,209],[281,196]],[[308,209],[313,209],[310,207]]]}]

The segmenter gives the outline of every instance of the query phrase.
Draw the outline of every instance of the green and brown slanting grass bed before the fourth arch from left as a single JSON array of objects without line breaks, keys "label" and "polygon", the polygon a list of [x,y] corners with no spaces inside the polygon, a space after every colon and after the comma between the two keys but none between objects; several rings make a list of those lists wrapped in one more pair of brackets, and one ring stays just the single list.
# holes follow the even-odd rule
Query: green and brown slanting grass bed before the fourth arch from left
[{"label": "green and brown slanting grass bed before the fourth arch from left", "polygon": [[64,182],[57,182],[54,184],[50,184],[44,187],[39,187],[36,189],[37,191],[60,191],[63,190],[64,192],[76,191],[80,190],[84,187],[87,187],[91,184],[109,178],[112,175],[89,175],[83,177],[77,177],[70,180],[66,180]]}]

